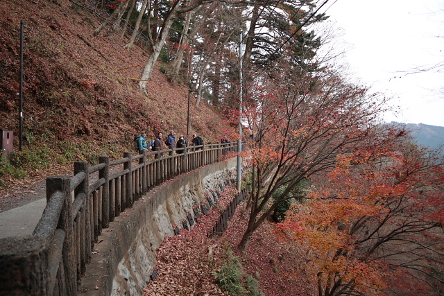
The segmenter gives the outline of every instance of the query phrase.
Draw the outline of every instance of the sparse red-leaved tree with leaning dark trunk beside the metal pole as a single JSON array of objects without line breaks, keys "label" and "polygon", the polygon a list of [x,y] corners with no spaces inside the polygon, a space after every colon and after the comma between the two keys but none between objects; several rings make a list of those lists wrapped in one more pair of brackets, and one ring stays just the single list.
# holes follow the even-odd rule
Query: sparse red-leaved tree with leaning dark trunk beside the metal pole
[{"label": "sparse red-leaved tree with leaning dark trunk beside the metal pole", "polygon": [[[248,141],[246,159],[254,170],[252,214],[241,252],[255,229],[303,180],[331,171],[338,155],[377,141],[373,128],[384,111],[384,98],[330,69],[314,74],[295,73],[287,63],[276,68],[273,78],[261,80],[250,92],[241,114],[255,138]],[[271,200],[282,187],[284,192]]]}]

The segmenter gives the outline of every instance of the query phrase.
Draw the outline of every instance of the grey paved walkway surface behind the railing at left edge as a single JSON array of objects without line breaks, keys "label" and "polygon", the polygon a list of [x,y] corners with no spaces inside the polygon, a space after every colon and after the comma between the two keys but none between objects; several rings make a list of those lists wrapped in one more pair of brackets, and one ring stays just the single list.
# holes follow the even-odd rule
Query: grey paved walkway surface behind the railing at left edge
[{"label": "grey paved walkway surface behind the railing at left edge", "polygon": [[0,212],[0,238],[32,234],[42,218],[46,198]]}]

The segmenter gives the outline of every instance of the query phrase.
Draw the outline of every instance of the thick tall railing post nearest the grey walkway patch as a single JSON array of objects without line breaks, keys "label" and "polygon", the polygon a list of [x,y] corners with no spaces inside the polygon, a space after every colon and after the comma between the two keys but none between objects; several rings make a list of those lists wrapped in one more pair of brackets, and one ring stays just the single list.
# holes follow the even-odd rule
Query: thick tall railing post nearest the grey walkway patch
[{"label": "thick tall railing post nearest the grey walkway patch", "polygon": [[71,218],[72,212],[72,198],[71,198],[71,180],[69,176],[47,177],[46,178],[46,200],[56,191],[61,191],[65,198],[63,202],[62,212],[60,213],[60,220],[58,228],[65,231],[65,241],[63,241],[62,260],[65,273],[65,288],[67,295],[77,295],[77,280],[76,280],[76,248],[74,243],[73,220]]}]

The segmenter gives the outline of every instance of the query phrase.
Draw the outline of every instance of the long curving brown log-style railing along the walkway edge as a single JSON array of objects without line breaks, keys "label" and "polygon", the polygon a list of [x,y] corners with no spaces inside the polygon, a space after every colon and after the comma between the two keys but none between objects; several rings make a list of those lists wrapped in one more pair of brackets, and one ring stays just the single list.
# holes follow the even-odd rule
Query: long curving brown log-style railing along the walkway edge
[{"label": "long curving brown log-style railing along the walkway edge", "polygon": [[220,162],[237,143],[178,150],[102,156],[95,166],[74,162],[73,177],[48,177],[46,208],[33,234],[0,240],[0,296],[77,295],[94,243],[114,217],[154,186]]}]

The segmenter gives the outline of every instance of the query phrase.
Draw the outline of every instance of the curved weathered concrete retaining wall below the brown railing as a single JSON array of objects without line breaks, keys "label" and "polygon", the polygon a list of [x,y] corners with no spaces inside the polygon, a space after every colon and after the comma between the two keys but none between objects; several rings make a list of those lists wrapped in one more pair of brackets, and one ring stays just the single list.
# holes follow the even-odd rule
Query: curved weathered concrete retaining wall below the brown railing
[{"label": "curved weathered concrete retaining wall below the brown railing", "polygon": [[235,168],[235,158],[205,166],[156,187],[135,202],[99,236],[80,295],[143,295],[157,263],[155,250],[164,236],[174,235],[172,225],[181,226],[187,211],[194,215],[194,204],[207,203],[205,192],[235,177]]}]

